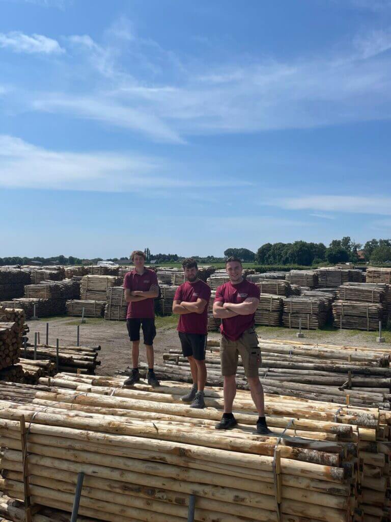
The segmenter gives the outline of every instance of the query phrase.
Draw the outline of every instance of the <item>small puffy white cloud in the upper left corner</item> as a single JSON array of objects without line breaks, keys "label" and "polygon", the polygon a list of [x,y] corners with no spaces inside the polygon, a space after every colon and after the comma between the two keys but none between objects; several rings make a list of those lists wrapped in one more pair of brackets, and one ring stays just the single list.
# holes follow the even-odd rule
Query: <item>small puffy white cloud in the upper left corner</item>
[{"label": "small puffy white cloud in the upper left corner", "polygon": [[0,47],[17,53],[28,54],[59,54],[64,50],[57,40],[47,38],[42,34],[24,34],[20,31],[0,33]]}]

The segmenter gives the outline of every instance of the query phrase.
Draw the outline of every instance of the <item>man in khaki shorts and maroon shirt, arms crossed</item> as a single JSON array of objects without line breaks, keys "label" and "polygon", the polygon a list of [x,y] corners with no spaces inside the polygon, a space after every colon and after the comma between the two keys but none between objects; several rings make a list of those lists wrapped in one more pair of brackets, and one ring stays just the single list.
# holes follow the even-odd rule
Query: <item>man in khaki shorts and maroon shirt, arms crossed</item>
[{"label": "man in khaki shorts and maroon shirt, arms crossed", "polygon": [[232,406],[236,395],[235,375],[240,353],[251,397],[259,415],[256,431],[267,435],[271,432],[265,419],[263,388],[258,375],[261,352],[254,329],[260,290],[254,283],[243,279],[241,260],[237,257],[227,259],[226,270],[229,281],[217,288],[213,303],[214,317],[222,319],[220,358],[224,377],[224,414],[222,420],[216,424],[216,429],[228,430],[237,424]]}]

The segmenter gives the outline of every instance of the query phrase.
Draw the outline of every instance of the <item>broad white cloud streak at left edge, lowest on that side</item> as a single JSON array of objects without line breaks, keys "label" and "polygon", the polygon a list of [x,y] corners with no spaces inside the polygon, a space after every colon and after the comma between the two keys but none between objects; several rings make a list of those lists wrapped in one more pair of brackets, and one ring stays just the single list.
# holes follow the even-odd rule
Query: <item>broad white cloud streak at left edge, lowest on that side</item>
[{"label": "broad white cloud streak at left edge, lowest on that side", "polygon": [[[137,153],[52,151],[15,136],[0,135],[3,187],[135,192],[148,197],[163,192],[173,197],[178,189],[185,188],[192,193],[204,191],[200,177],[180,175],[180,170],[164,159]],[[229,179],[212,178],[205,183],[219,188],[237,186],[237,181]]]}]

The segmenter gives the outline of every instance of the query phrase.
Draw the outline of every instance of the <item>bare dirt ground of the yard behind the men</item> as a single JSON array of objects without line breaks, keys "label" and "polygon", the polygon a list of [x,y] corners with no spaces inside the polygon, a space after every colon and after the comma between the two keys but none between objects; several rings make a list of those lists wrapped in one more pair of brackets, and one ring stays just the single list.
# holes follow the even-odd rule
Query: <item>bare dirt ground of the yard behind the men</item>
[{"label": "bare dirt ground of the yard behind the men", "polygon": [[[54,344],[56,338],[61,345],[76,345],[77,325],[80,319],[75,317],[56,317],[30,321],[29,340],[33,342],[34,332],[40,333],[41,342],[46,340],[46,321],[49,323],[49,343]],[[163,353],[170,348],[178,348],[179,340],[176,331],[175,317],[159,317],[156,320],[157,335],[155,339],[155,362],[161,364]],[[288,328],[258,327],[258,334],[264,339],[292,339],[297,340],[297,330]],[[376,332],[359,332],[357,330],[310,330],[304,332],[303,341],[325,342],[334,345],[369,346],[381,349],[376,343]],[[385,332],[387,341],[391,341],[391,333]],[[210,337],[218,338],[217,333]],[[122,321],[105,321],[104,319],[87,319],[87,323],[80,325],[80,345],[100,345],[99,354],[101,366],[97,366],[97,374],[114,375],[117,370],[124,370],[130,363],[130,342],[126,324]],[[387,342],[385,347],[389,347]],[[140,347],[140,360],[146,362],[145,352]]]}]

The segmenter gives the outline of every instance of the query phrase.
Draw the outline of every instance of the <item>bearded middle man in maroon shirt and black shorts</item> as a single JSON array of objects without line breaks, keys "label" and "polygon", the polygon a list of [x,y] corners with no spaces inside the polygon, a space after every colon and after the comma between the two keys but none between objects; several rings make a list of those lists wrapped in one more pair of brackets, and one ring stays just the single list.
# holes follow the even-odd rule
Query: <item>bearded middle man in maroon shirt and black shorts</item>
[{"label": "bearded middle man in maroon shirt and black shorts", "polygon": [[173,313],[179,314],[177,330],[182,353],[190,364],[193,386],[190,393],[181,399],[184,402],[191,402],[190,408],[205,408],[207,307],[211,289],[198,278],[196,259],[192,257],[185,259],[182,267],[187,280],[175,292]]}]

